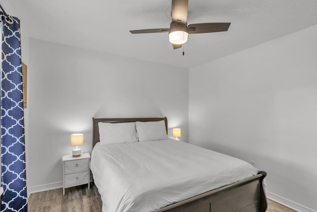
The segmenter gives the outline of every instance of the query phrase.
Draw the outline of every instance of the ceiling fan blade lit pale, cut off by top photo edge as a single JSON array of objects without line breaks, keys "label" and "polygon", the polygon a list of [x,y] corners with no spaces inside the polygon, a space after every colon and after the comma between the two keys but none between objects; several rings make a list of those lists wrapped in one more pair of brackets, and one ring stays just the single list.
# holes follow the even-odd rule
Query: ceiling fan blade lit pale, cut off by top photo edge
[{"label": "ceiling fan blade lit pale, cut off by top photo edge", "polygon": [[172,22],[181,21],[182,24],[187,22],[188,0],[172,0]]}]

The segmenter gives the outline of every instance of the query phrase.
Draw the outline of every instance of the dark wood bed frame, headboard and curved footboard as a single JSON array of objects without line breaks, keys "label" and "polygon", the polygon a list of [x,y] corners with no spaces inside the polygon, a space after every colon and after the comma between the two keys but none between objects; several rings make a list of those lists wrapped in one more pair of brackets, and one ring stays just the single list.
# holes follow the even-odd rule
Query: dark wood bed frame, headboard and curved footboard
[{"label": "dark wood bed frame, headboard and curved footboard", "polygon": [[[93,147],[99,142],[99,122],[149,122],[165,121],[166,133],[168,129],[167,118],[119,118],[104,119],[93,118]],[[266,172],[260,171],[258,175],[242,181],[226,185],[187,200],[166,206],[156,212],[265,212],[267,200],[263,188]],[[98,194],[100,207],[102,200]]]}]

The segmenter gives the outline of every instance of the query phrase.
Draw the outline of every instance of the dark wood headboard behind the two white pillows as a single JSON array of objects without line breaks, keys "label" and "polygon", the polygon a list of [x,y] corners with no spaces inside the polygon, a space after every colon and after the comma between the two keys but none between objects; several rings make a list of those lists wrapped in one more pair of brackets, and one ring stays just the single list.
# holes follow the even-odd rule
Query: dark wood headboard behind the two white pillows
[{"label": "dark wood headboard behind the two white pillows", "polygon": [[168,131],[167,118],[118,118],[118,119],[105,119],[105,118],[94,118],[93,117],[93,148],[97,142],[99,142],[99,122],[106,123],[123,123],[123,122],[158,122],[164,120],[166,134]]}]

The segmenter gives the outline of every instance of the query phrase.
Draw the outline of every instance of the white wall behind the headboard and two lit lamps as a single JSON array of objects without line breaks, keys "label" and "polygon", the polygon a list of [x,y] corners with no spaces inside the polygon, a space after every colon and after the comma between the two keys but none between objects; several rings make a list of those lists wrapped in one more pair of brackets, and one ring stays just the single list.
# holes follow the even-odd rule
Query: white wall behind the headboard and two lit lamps
[{"label": "white wall behind the headboard and two lit lamps", "polygon": [[70,135],[92,150],[92,117],[166,116],[187,141],[188,90],[188,69],[30,39],[28,189],[62,185]]}]

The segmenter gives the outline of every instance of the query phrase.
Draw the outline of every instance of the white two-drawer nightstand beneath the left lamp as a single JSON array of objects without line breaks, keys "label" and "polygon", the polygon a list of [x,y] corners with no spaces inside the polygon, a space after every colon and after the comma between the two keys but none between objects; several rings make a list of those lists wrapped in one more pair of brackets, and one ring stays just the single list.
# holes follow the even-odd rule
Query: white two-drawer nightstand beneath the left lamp
[{"label": "white two-drawer nightstand beneath the left lamp", "polygon": [[65,188],[79,186],[88,183],[90,189],[90,154],[82,153],[80,157],[73,157],[73,155],[64,155],[63,161],[63,195],[65,195]]}]

